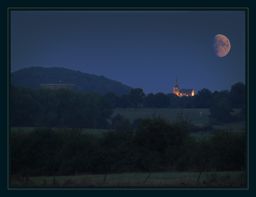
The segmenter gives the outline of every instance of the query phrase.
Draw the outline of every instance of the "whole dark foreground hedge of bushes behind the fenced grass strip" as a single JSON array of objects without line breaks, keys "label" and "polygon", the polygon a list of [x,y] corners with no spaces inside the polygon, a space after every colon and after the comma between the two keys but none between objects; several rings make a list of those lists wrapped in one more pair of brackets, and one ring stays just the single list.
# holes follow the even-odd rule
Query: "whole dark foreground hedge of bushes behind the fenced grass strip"
[{"label": "whole dark foreground hedge of bushes behind the fenced grass strip", "polygon": [[245,132],[189,135],[180,116],[146,118],[135,129],[91,135],[81,128],[34,128],[11,133],[11,173],[28,176],[245,169]]}]

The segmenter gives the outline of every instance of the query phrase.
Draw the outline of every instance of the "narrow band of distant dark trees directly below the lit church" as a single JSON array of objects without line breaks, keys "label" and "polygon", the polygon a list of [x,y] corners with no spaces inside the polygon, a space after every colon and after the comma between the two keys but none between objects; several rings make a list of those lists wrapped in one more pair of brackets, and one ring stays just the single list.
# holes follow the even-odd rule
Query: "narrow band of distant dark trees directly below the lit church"
[{"label": "narrow band of distant dark trees directly below the lit church", "polygon": [[149,93],[145,94],[143,89],[131,89],[129,94],[122,96],[116,95],[114,92],[105,94],[113,104],[114,108],[181,108],[181,109],[203,109],[211,108],[219,101],[225,102],[231,108],[243,108],[246,101],[246,89],[242,82],[238,82],[231,86],[231,90],[214,91],[213,93],[206,88],[198,91],[195,96],[182,96],[168,93]]}]

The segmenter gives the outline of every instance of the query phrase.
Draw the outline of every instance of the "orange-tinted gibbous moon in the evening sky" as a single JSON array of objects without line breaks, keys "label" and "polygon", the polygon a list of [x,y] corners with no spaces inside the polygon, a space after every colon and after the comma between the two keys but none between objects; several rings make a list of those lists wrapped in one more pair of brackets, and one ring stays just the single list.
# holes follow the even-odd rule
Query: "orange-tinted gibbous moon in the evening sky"
[{"label": "orange-tinted gibbous moon in the evening sky", "polygon": [[230,42],[227,36],[217,34],[212,39],[212,48],[216,56],[224,57],[230,50]]}]

